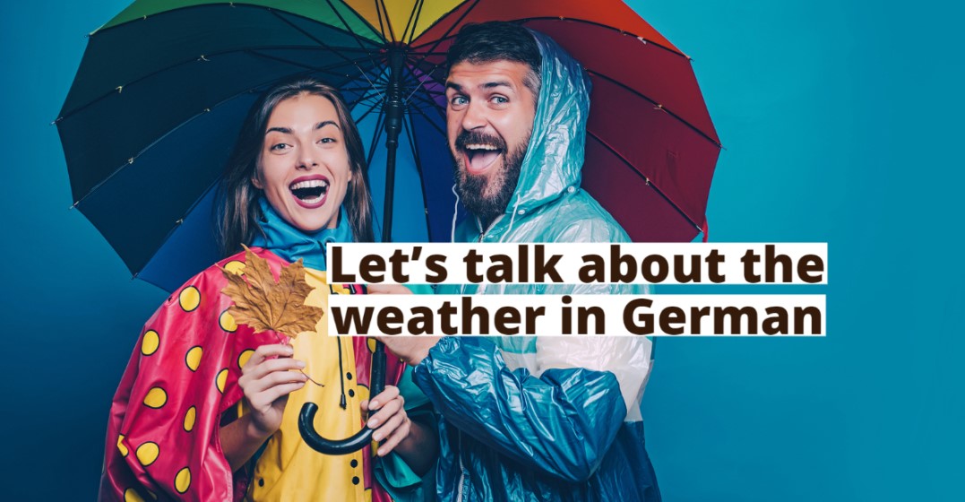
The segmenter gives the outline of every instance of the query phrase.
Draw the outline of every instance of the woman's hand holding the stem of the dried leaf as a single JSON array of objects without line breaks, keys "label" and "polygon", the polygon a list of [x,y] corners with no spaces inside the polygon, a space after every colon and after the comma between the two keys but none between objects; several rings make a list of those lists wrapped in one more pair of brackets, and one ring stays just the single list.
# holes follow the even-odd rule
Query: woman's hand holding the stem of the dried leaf
[{"label": "woman's hand holding the stem of the dried leaf", "polygon": [[292,359],[289,345],[264,345],[241,368],[238,386],[251,407],[250,427],[257,436],[267,437],[282,426],[282,412],[289,394],[305,385],[301,372],[305,362]]}]

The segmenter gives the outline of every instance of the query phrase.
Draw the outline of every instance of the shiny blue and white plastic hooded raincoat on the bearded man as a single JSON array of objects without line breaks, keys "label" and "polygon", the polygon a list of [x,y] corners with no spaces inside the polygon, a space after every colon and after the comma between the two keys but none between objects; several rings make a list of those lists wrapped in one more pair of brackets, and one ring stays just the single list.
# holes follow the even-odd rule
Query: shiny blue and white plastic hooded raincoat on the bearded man
[{"label": "shiny blue and white plastic hooded raincoat on the bearded man", "polygon": [[[627,242],[580,188],[589,112],[585,73],[534,34],[542,83],[530,147],[506,213],[457,241]],[[643,293],[626,285],[471,285],[439,293]],[[646,338],[446,338],[414,380],[441,414],[442,500],[660,500],[640,400]]]}]

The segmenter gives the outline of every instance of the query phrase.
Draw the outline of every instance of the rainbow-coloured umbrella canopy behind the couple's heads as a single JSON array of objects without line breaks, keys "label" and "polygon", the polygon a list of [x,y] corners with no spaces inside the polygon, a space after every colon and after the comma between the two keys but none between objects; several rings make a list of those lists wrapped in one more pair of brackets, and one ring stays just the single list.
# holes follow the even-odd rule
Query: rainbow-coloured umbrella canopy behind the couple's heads
[{"label": "rainbow-coloured umbrella canopy behind the couple's heads", "polygon": [[56,121],[74,207],[132,273],[177,288],[220,258],[214,188],[248,108],[312,75],[343,91],[369,138],[383,238],[447,241],[445,51],[462,25],[492,19],[584,64],[584,186],[630,237],[705,230],[720,142],[689,58],[619,1],[137,1],[91,34]]}]

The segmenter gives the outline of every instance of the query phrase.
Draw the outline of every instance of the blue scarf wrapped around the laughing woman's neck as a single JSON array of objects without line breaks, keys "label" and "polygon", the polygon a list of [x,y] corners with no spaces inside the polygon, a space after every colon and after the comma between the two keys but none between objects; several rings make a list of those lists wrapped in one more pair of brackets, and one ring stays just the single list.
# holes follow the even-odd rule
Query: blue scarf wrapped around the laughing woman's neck
[{"label": "blue scarf wrapped around the laughing woman's neck", "polygon": [[258,203],[262,207],[262,221],[258,224],[264,236],[256,233],[251,245],[263,247],[291,263],[301,258],[305,266],[325,270],[325,250],[329,242],[352,241],[345,207],[339,209],[339,223],[334,229],[323,228],[306,234],[279,216],[263,196]]}]

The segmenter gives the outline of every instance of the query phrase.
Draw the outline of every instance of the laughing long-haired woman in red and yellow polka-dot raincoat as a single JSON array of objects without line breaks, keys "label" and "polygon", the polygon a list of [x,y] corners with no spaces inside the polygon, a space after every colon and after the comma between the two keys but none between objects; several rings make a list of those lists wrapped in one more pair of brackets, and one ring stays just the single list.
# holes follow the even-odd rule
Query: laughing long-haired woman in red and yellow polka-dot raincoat
[{"label": "laughing long-haired woman in red and yellow polka-dot raincoat", "polygon": [[[338,93],[313,79],[276,86],[242,126],[222,184],[224,254],[246,243],[273,273],[298,259],[313,288],[361,293],[325,282],[329,242],[372,240],[362,142]],[[221,290],[224,273],[243,274],[245,254],[209,267],[148,321],[114,398],[102,499],[388,500],[372,475],[371,447],[318,454],[302,441],[297,415],[319,405],[316,429],[345,437],[368,410],[371,350],[364,338],[315,332],[290,341],[237,325]],[[251,266],[255,266],[252,264]],[[254,273],[254,269],[251,269]],[[396,358],[390,381],[403,371]],[[434,434],[409,420],[396,386],[372,399],[375,454],[398,459],[393,480],[416,484],[435,456]],[[394,455],[395,455],[394,454]],[[406,464],[407,462],[407,464]],[[398,472],[399,470],[403,472]]]}]

